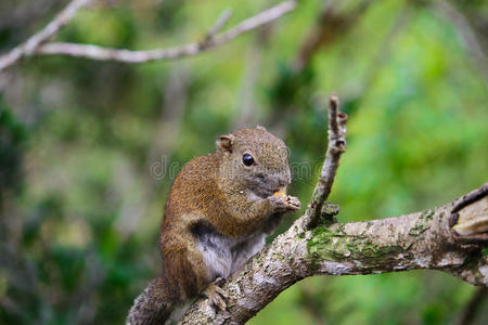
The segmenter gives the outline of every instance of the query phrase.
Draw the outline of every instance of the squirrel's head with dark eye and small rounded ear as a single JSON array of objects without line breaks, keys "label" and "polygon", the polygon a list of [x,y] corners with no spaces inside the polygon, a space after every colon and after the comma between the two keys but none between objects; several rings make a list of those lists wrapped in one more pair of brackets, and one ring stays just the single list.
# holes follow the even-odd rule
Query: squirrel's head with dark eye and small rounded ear
[{"label": "squirrel's head with dark eye and small rounded ear", "polygon": [[283,140],[262,127],[242,129],[217,139],[219,179],[268,197],[291,182],[288,151]]}]

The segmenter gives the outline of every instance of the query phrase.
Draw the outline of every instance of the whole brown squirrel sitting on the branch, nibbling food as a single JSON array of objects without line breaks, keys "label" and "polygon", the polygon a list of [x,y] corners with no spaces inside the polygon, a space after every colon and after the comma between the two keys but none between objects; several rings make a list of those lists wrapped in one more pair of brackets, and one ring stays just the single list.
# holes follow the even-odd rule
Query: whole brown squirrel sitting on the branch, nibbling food
[{"label": "whole brown squirrel sitting on the branch, nibbling food", "polygon": [[224,278],[265,246],[285,212],[300,208],[286,195],[290,182],[286,145],[262,127],[221,135],[214,154],[190,160],[165,206],[163,272],[136,299],[127,324],[164,324],[197,296],[226,309]]}]

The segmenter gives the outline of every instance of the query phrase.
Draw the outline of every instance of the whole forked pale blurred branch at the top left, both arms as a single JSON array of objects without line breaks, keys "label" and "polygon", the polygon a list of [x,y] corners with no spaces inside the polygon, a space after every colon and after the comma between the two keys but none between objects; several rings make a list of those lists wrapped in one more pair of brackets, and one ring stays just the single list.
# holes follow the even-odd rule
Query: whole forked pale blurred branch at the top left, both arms
[{"label": "whole forked pale blurred branch at the top left, both arms", "polygon": [[[156,60],[175,60],[191,56],[224,44],[241,34],[256,29],[269,24],[296,6],[295,0],[281,2],[268,10],[265,10],[230,28],[227,31],[216,34],[229,18],[229,12],[224,12],[207,32],[202,41],[191,42],[174,48],[155,49],[146,51],[130,51],[125,49],[112,49],[93,44],[78,44],[68,42],[50,42],[46,40],[54,36],[62,26],[74,16],[76,11],[89,3],[90,0],[74,0],[53,22],[44,29],[49,29],[49,37],[44,37],[44,29],[33,36],[26,43],[15,48],[11,52],[0,57],[0,72],[21,58],[29,55],[67,55],[86,57],[99,61],[117,61],[124,63],[143,63]],[[69,9],[69,10],[68,10]],[[51,27],[50,27],[51,26]],[[48,28],[50,27],[50,28]]]}]

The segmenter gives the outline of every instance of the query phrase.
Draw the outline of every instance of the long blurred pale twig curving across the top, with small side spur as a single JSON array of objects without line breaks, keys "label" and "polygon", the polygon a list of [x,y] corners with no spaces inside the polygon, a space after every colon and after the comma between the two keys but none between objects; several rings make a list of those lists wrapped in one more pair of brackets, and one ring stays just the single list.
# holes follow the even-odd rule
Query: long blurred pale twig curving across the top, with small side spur
[{"label": "long blurred pale twig curving across the top, with small side spur", "polygon": [[[187,43],[174,48],[167,49],[156,49],[147,51],[130,51],[120,49],[111,49],[92,44],[77,44],[77,43],[65,43],[65,42],[52,42],[46,43],[36,49],[33,55],[67,55],[76,57],[86,57],[99,61],[117,61],[124,63],[142,63],[155,60],[175,60],[184,56],[195,55],[206,50],[213,49],[215,47],[227,43],[241,34],[249,31],[252,29],[258,28],[262,25],[269,24],[285,13],[294,10],[296,6],[295,0],[287,0],[280,4],[277,4],[268,10],[265,10],[232,27],[231,29],[211,36],[207,38],[206,41],[196,41],[192,43]],[[224,17],[220,20],[224,21]],[[219,27],[218,24],[216,24]],[[214,28],[218,29],[218,28]],[[210,30],[211,31],[211,30]],[[11,60],[3,67],[0,65],[0,70],[9,65],[12,65],[20,58],[22,58],[25,53],[23,49],[20,49],[21,55],[15,60]],[[24,55],[22,55],[24,53]],[[7,55],[10,55],[7,54]],[[1,62],[1,58],[0,58]]]}]

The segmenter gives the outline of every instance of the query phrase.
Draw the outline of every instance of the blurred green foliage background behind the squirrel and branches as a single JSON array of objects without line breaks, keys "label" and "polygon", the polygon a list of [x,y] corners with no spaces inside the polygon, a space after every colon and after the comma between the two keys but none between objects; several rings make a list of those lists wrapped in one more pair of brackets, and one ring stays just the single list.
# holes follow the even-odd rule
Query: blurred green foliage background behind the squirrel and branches
[{"label": "blurred green foliage background behind the squirrel and branches", "polygon": [[[0,1],[0,52],[68,1]],[[56,40],[132,50],[202,39],[278,1],[98,1]],[[219,134],[285,140],[305,207],[326,101],[349,115],[330,199],[342,222],[442,205],[488,180],[488,3],[299,1],[197,56],[31,57],[0,75],[0,323],[120,324],[160,268],[172,178]],[[299,213],[288,216],[283,232]],[[486,291],[436,271],[307,278],[251,324],[488,324]],[[477,303],[477,304],[476,304]],[[477,310],[471,311],[471,306]]]}]

